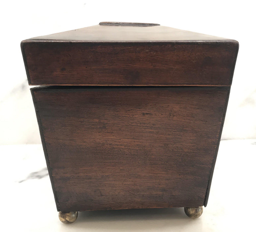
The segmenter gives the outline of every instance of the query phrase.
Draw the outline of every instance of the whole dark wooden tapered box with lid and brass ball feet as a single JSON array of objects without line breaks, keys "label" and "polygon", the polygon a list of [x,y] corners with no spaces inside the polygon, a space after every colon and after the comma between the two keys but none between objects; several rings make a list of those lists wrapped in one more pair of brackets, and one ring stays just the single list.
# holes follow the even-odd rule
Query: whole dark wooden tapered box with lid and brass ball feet
[{"label": "whole dark wooden tapered box with lid and brass ball feet", "polygon": [[207,205],[235,40],[102,22],[21,42],[59,218]]}]

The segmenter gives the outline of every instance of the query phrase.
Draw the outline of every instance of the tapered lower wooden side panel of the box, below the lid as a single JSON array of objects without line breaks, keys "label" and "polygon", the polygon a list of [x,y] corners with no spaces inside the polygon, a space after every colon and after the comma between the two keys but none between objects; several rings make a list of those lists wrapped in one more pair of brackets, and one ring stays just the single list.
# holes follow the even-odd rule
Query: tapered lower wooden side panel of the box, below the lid
[{"label": "tapered lower wooden side panel of the box, below the lid", "polygon": [[57,209],[204,205],[229,89],[32,88]]}]

